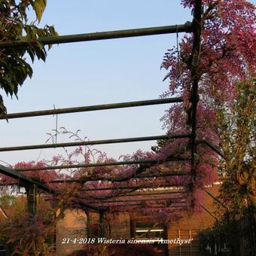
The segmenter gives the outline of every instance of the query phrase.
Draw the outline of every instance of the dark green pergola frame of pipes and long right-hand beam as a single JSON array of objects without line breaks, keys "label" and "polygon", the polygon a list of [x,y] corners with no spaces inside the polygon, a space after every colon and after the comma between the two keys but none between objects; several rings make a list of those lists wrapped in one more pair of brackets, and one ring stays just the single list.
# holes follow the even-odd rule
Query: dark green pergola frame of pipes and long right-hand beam
[{"label": "dark green pergola frame of pipes and long right-hand beam", "polygon": [[[160,34],[167,34],[167,33],[193,32],[194,42],[193,42],[192,55],[190,56],[191,59],[194,59],[194,64],[191,66],[191,69],[190,69],[191,77],[193,81],[193,86],[192,86],[191,96],[190,96],[190,102],[191,102],[190,118],[192,120],[191,133],[174,134],[174,135],[168,135],[168,136],[148,136],[148,137],[135,137],[135,138],[123,138],[123,139],[105,139],[105,140],[88,141],[88,142],[59,143],[59,144],[53,144],[53,145],[24,145],[24,146],[0,148],[0,151],[20,151],[20,150],[32,150],[32,149],[38,149],[38,148],[62,148],[62,147],[72,147],[72,146],[78,146],[78,145],[101,145],[101,144],[114,144],[114,143],[123,143],[123,142],[142,142],[142,141],[151,141],[151,140],[157,140],[157,139],[168,140],[168,139],[188,138],[190,151],[191,151],[190,157],[169,156],[167,157],[166,162],[189,161],[191,166],[190,173],[181,172],[181,171],[180,172],[172,171],[162,175],[160,174],[159,175],[156,175],[156,174],[142,175],[142,172],[144,172],[149,167],[157,166],[159,164],[165,163],[164,161],[160,161],[160,160],[134,160],[134,161],[113,162],[113,163],[92,163],[92,164],[79,164],[79,165],[66,165],[66,166],[33,167],[33,168],[26,168],[26,169],[10,169],[8,167],[0,165],[0,172],[4,175],[8,175],[9,177],[16,179],[24,187],[36,186],[38,187],[38,189],[44,190],[45,192],[53,195],[59,194],[59,191],[52,189],[51,187],[47,186],[47,184],[37,181],[35,178],[29,178],[20,172],[50,170],[50,169],[67,169],[67,168],[92,168],[96,166],[117,166],[117,165],[136,164],[136,165],[139,165],[138,171],[136,172],[136,174],[133,175],[133,177],[129,177],[124,180],[122,178],[119,178],[119,179],[116,178],[116,180],[114,180],[114,178],[105,178],[105,177],[93,178],[92,176],[90,176],[90,177],[85,177],[80,179],[72,178],[69,180],[55,180],[55,181],[51,181],[51,183],[65,183],[65,182],[86,183],[87,181],[108,181],[108,180],[110,181],[111,180],[111,181],[114,181],[116,184],[118,181],[126,181],[126,180],[130,180],[131,178],[140,179],[140,178],[167,177],[167,176],[175,176],[175,175],[191,175],[191,184],[193,184],[196,178],[197,163],[196,163],[195,155],[197,154],[197,145],[205,144],[209,148],[212,148],[213,151],[221,155],[221,157],[223,157],[222,152],[211,143],[206,141],[200,141],[200,142],[196,141],[197,102],[199,101],[199,96],[197,91],[198,84],[199,84],[199,76],[197,75],[197,65],[198,65],[198,59],[200,58],[200,41],[201,41],[200,37],[201,37],[201,30],[202,30],[202,24],[201,24],[202,23],[202,0],[196,0],[195,3],[196,4],[194,8],[194,20],[192,23],[187,22],[187,23],[184,23],[181,25],[175,25],[175,26],[163,26],[163,27],[154,27],[154,28],[145,28],[145,29],[126,29],[126,30],[111,31],[111,32],[96,32],[96,33],[81,34],[81,35],[62,35],[62,36],[56,36],[56,37],[38,38],[38,41],[40,41],[41,44],[45,45],[45,44],[64,44],[64,43],[71,43],[71,42],[78,42],[78,41],[105,40],[105,39],[111,39],[111,38],[128,38],[128,37],[136,37],[136,36],[143,36],[143,35],[160,35]],[[32,43],[33,41],[27,42],[27,41],[23,41],[22,39],[20,41],[0,42],[0,49],[6,48],[6,47],[20,47],[20,46],[24,46],[26,44],[32,44]],[[23,112],[23,113],[8,114],[7,117],[8,119],[13,119],[13,118],[21,118],[21,117],[43,116],[43,115],[50,115],[50,114],[67,114],[67,113],[75,113],[75,112],[81,112],[81,111],[100,111],[100,110],[115,109],[115,108],[131,108],[131,107],[138,107],[138,106],[145,106],[145,105],[157,105],[157,104],[177,103],[177,102],[183,102],[183,99],[181,97],[175,97],[175,98],[169,98],[169,99],[151,99],[151,100],[145,100],[145,101],[139,101],[139,102],[120,102],[120,103],[112,103],[112,104],[105,104],[105,105],[90,105],[90,106],[75,107],[75,108],[59,108],[59,109],[50,109],[50,110],[44,110],[44,111],[29,111],[29,112]],[[5,118],[6,116],[3,116],[3,115],[0,116],[0,119],[5,119]],[[174,187],[176,188],[178,187],[178,189],[183,188],[181,186],[184,186],[184,184],[158,184],[157,185],[157,187],[159,188],[169,187],[172,189]],[[152,185],[148,185],[148,188],[150,187],[152,187]],[[98,187],[95,189],[92,187],[88,187],[88,188],[84,187],[82,191],[89,192],[89,191],[97,191],[97,190],[99,191],[100,190],[110,190],[110,191],[124,190],[123,193],[125,193],[125,195],[118,196],[117,194],[115,197],[131,197],[132,194],[129,195],[129,193],[135,190],[141,190],[145,188],[147,188],[147,185]],[[143,192],[145,192],[145,190],[142,190],[139,193],[143,194]],[[145,193],[145,195],[150,196],[151,194],[148,192],[149,191],[147,190],[147,193]],[[181,192],[169,191],[169,193],[177,193],[177,194],[189,193],[189,192],[190,192],[189,190],[184,191],[184,189]],[[154,193],[156,193],[156,191]],[[139,194],[134,194],[134,196],[138,197]],[[78,200],[75,200],[75,203],[79,203],[81,206],[84,206],[87,209],[93,209],[97,212],[102,212],[102,208],[100,208],[99,206],[95,206],[93,205],[93,203],[84,203],[81,199],[78,198]],[[175,197],[172,199],[174,200]],[[119,200],[119,202],[128,203],[134,200],[123,199],[123,200]],[[136,201],[147,201],[147,200],[152,200],[152,199],[136,200]],[[160,200],[163,200],[163,199],[160,199]],[[171,200],[171,198],[169,200]],[[103,202],[105,201],[102,201],[102,203]],[[114,201],[111,201],[111,202],[114,202]],[[116,202],[118,201],[115,201],[115,203]],[[128,205],[131,206],[131,204],[128,204]],[[123,205],[123,206],[127,206],[127,205]]]}]

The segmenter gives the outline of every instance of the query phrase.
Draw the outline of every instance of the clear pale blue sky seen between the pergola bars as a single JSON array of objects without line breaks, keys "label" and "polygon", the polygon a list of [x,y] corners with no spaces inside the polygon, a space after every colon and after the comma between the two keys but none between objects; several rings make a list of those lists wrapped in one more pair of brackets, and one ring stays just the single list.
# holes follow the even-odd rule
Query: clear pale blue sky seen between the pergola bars
[{"label": "clear pale blue sky seen between the pergola bars", "polygon": [[[48,0],[41,20],[54,25],[59,35],[168,26],[191,20],[180,0]],[[181,38],[182,33],[179,34]],[[111,102],[157,99],[168,89],[163,82],[165,70],[160,64],[166,49],[176,44],[176,35],[153,35],[107,41],[55,45],[46,62],[32,64],[34,75],[18,93],[19,100],[4,97],[8,112],[68,108]],[[168,105],[154,105],[120,110],[93,111],[58,116],[58,127],[81,130],[81,136],[114,139],[154,136],[165,133],[160,117]],[[29,117],[1,121],[1,147],[44,144],[55,129],[55,117]],[[58,142],[70,142],[59,137]],[[142,148],[150,150],[155,142],[136,142],[96,146],[109,157],[131,154]],[[41,158],[61,151],[45,149]],[[35,160],[40,151],[0,153],[7,163]]]}]

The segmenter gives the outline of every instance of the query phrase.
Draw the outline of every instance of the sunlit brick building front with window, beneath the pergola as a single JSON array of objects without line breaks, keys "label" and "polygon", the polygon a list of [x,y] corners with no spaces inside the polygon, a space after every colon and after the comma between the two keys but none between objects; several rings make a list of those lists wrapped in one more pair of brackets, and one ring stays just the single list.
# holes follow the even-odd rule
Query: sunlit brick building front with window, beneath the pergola
[{"label": "sunlit brick building front with window, beneath the pergola", "polygon": [[[218,186],[206,187],[206,190],[211,194],[218,194]],[[155,241],[154,246],[160,256],[196,256],[200,251],[198,234],[201,230],[212,227],[216,221],[212,215],[215,215],[217,206],[212,197],[207,194],[203,207],[202,211],[197,214],[181,218],[178,221],[169,221],[167,224],[156,223],[154,218],[147,216],[121,212],[108,220],[108,227],[105,227],[108,230],[102,236],[107,236],[105,238],[108,239],[125,239],[126,241],[128,239]],[[206,209],[212,212],[212,215]],[[82,211],[67,210],[65,217],[59,221],[56,227],[57,255],[66,256],[72,251],[82,248],[83,245],[76,240],[74,242],[74,239],[86,238],[91,231],[90,227],[95,228],[97,225],[99,227],[98,214],[90,213],[87,216]],[[93,232],[90,233],[90,237],[94,236]],[[70,242],[71,240],[73,242]],[[119,246],[122,244],[120,243]]]}]

